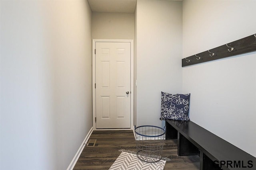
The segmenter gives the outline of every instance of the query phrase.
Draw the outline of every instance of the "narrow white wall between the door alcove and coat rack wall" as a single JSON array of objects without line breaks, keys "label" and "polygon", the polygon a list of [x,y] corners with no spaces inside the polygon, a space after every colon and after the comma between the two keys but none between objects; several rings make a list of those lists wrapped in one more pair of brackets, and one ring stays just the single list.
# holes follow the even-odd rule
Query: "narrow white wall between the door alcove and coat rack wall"
[{"label": "narrow white wall between the door alcove and coat rack wall", "polygon": [[163,126],[161,90],[182,92],[182,2],[138,0],[137,122]]}]

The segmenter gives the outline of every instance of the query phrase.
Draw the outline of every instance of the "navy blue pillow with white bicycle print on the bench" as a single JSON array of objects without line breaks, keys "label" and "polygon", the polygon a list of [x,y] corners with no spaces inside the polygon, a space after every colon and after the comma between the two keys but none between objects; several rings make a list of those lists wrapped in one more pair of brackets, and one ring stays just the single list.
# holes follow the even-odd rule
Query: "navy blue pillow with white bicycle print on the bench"
[{"label": "navy blue pillow with white bicycle print on the bench", "polygon": [[160,119],[189,121],[190,94],[169,94],[161,92]]}]

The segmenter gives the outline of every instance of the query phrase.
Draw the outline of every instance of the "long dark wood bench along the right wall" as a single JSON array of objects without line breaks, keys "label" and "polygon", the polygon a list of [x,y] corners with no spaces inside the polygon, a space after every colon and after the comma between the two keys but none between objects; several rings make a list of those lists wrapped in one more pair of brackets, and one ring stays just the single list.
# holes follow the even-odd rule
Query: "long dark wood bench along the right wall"
[{"label": "long dark wood bench along the right wall", "polygon": [[168,139],[178,139],[178,156],[199,155],[200,170],[256,170],[254,156],[192,121],[166,120]]}]

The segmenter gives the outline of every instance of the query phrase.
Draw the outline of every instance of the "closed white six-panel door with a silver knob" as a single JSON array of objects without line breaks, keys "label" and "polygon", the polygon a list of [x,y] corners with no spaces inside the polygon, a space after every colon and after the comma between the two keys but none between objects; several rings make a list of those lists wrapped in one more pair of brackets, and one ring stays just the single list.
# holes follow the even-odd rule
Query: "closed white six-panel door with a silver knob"
[{"label": "closed white six-panel door with a silver knob", "polygon": [[96,42],[96,129],[130,128],[131,44]]}]

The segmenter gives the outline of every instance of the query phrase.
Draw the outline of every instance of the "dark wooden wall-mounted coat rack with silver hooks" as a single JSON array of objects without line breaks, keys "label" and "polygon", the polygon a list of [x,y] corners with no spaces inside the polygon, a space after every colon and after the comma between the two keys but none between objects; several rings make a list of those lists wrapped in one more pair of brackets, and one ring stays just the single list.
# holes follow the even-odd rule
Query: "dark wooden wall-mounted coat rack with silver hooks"
[{"label": "dark wooden wall-mounted coat rack with silver hooks", "polygon": [[256,34],[182,59],[182,67],[256,51]]}]

